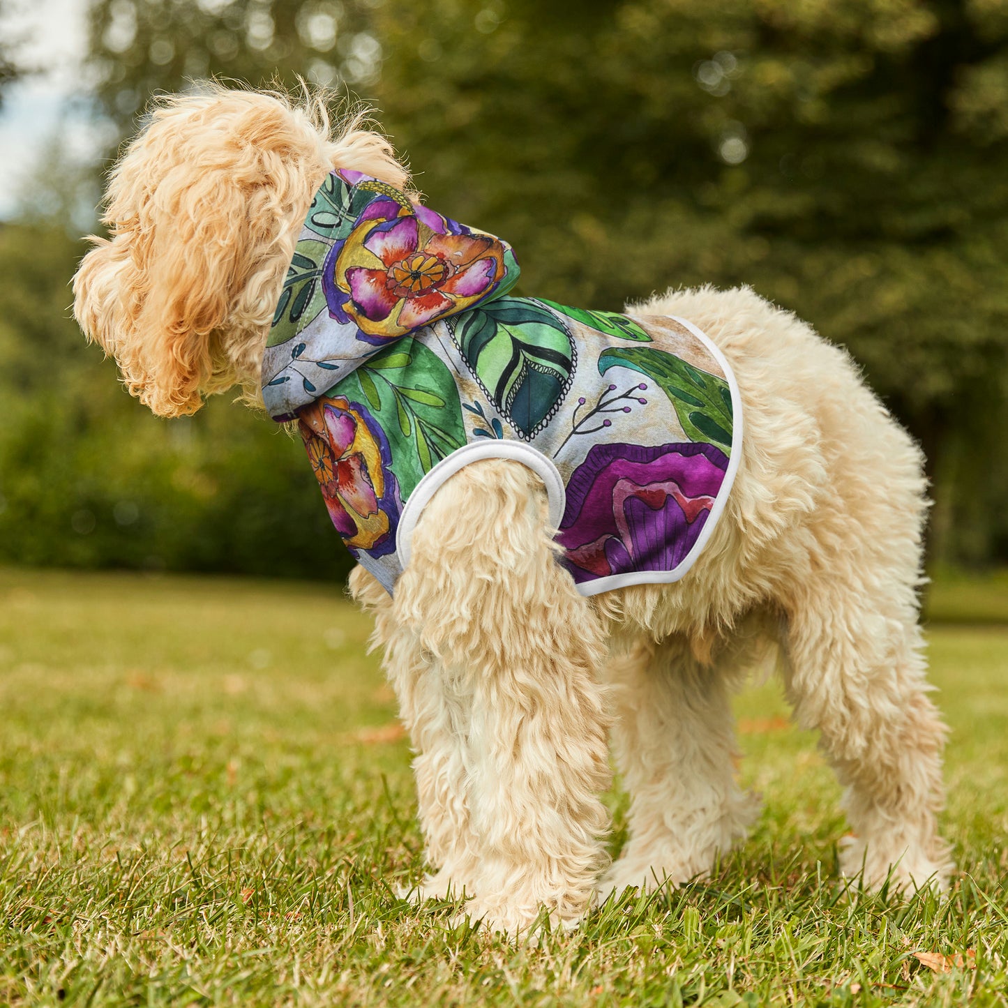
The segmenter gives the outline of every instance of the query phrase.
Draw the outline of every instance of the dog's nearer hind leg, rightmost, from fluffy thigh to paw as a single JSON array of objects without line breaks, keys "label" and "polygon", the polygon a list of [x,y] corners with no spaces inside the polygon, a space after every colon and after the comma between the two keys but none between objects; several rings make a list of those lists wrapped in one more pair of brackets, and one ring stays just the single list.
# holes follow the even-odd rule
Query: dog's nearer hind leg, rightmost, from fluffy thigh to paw
[{"label": "dog's nearer hind leg, rightmost, from fluffy thigh to paw", "polygon": [[801,529],[768,552],[787,618],[785,686],[846,788],[846,875],[879,888],[943,886],[937,835],[946,729],[917,624],[925,510],[921,459],[864,390],[818,417],[829,484]]}]

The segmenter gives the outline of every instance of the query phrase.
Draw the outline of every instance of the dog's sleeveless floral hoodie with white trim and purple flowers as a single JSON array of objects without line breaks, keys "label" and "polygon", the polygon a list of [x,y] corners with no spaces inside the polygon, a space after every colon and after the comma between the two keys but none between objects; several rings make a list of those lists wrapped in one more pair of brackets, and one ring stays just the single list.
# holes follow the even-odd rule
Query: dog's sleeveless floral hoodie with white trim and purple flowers
[{"label": "dog's sleeveless floral hoodie with white trim and purple flowers", "polygon": [[331,172],[276,305],[266,408],[296,420],[333,524],[389,593],[434,491],[495,458],[541,477],[583,595],[677,581],[738,468],[725,358],[685,320],[513,297],[517,279],[507,242]]}]

